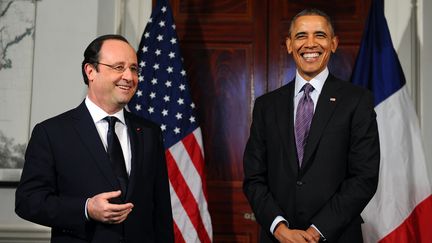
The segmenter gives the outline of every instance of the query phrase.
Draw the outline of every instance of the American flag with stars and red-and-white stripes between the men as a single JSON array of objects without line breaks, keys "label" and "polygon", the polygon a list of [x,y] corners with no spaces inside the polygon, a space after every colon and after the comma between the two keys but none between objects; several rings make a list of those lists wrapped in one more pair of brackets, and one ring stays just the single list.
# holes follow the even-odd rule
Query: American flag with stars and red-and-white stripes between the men
[{"label": "American flag with stars and red-and-white stripes between the men", "polygon": [[129,109],[163,132],[176,242],[211,242],[204,150],[171,7],[158,0],[137,51],[138,90]]}]

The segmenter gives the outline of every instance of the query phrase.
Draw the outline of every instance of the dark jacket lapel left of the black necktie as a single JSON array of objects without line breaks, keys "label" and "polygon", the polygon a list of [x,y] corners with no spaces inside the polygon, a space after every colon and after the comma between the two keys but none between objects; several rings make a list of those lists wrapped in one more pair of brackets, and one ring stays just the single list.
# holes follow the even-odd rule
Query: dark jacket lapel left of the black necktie
[{"label": "dark jacket lapel left of the black necktie", "polygon": [[111,168],[108,154],[97,132],[93,119],[84,102],[82,102],[74,113],[76,119],[75,130],[81,137],[82,143],[87,146],[95,163],[104,177],[110,182],[113,189],[119,188],[116,176]]}]

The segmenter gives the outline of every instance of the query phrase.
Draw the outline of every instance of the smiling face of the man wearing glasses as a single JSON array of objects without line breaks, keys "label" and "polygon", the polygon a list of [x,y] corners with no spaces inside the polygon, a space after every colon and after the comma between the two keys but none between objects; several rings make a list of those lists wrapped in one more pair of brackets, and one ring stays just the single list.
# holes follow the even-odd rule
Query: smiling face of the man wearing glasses
[{"label": "smiling face of the man wearing glasses", "polygon": [[[86,64],[89,77],[89,98],[109,114],[115,113],[129,102],[138,85],[137,57],[134,49],[120,40],[106,40],[99,52],[98,71]],[[124,67],[121,72],[111,67]],[[132,70],[131,70],[132,69]]]}]

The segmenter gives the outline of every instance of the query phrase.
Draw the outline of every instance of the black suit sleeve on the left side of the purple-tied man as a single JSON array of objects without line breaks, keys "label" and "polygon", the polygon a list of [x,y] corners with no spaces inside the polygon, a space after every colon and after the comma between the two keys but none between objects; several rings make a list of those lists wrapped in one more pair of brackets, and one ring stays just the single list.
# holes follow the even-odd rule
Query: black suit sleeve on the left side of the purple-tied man
[{"label": "black suit sleeve on the left side of the purple-tied man", "polygon": [[270,232],[270,226],[277,216],[285,217],[275,202],[268,186],[267,141],[265,134],[264,105],[258,98],[253,110],[252,125],[246,144],[243,169],[243,191],[252,207],[258,223],[264,231]]}]

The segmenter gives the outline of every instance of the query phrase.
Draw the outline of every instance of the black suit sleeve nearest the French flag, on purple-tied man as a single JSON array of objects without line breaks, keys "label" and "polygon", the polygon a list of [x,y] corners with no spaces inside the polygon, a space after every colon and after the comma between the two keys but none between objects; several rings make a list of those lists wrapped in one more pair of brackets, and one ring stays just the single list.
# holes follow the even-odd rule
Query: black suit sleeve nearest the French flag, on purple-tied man
[{"label": "black suit sleeve nearest the French flag, on purple-tied man", "polygon": [[346,179],[311,220],[331,242],[337,240],[349,223],[360,219],[360,213],[377,189],[380,147],[373,97],[369,91],[359,99],[350,124]]}]

